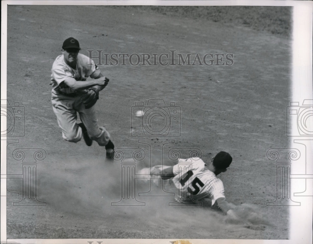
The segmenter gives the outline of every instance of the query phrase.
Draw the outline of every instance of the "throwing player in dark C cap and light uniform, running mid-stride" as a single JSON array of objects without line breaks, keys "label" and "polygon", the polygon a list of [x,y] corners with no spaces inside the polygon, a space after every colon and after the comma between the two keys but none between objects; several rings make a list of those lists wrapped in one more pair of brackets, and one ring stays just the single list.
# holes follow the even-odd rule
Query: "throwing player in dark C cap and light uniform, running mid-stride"
[{"label": "throwing player in dark C cap and light uniform, running mid-stride", "polygon": [[[79,54],[78,40],[70,37],[63,42],[62,55],[52,65],[52,106],[62,136],[69,142],[78,142],[83,137],[91,146],[96,141],[105,146],[106,157],[114,156],[114,144],[110,134],[99,126],[94,104],[99,91],[105,88],[109,79],[101,74],[89,57]],[[88,77],[93,80],[86,80]],[[77,112],[81,123],[77,123]]]}]

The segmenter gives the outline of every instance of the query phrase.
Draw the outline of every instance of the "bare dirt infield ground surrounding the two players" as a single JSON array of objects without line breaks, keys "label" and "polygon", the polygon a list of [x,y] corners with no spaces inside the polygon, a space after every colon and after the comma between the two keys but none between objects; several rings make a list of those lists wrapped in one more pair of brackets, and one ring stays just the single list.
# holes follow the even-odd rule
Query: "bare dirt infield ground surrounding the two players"
[{"label": "bare dirt infield ground surrounding the two players", "polygon": [[[11,105],[19,102],[25,107],[25,136],[8,144],[8,174],[22,174],[22,160],[12,156],[16,148],[42,148],[46,156],[37,161],[37,199],[47,203],[13,206],[22,199],[22,180],[8,179],[10,194],[20,193],[7,198],[8,239],[288,238],[288,207],[266,206],[276,199],[276,165],[266,152],[288,147],[291,8],[186,9],[8,6],[7,98]],[[165,154],[185,148],[182,158],[198,148],[205,162],[221,150],[229,152],[233,163],[218,176],[226,199],[257,208],[270,225],[247,228],[227,223],[214,209],[168,206],[171,196],[138,196],[149,190],[138,180],[136,200],[145,206],[111,206],[121,199],[121,160],[105,161],[105,150],[97,143],[87,147],[84,141],[64,141],[52,111],[51,67],[71,36],[79,40],[85,55],[86,50],[95,50],[93,56],[103,50],[138,54],[142,60],[141,54],[170,56],[170,50],[176,50],[183,57],[190,53],[193,63],[197,54],[201,59],[213,54],[214,65],[160,65],[158,60],[157,65],[131,65],[127,58],[126,65],[121,65],[121,58],[117,65],[99,64],[110,79],[96,104],[99,122],[117,148],[144,150],[136,170],[149,165],[150,158],[152,164],[160,164],[162,148]],[[224,56],[220,62],[231,65],[216,65],[216,54],[232,54],[233,62]],[[132,62],[136,60],[133,56]],[[177,64],[178,56],[163,56],[163,63],[172,61]],[[149,99],[179,107],[180,125],[168,136],[132,136],[142,133],[141,118],[132,115],[132,107],[138,101],[146,105]],[[155,123],[160,126],[162,121],[156,118]],[[139,127],[131,128],[132,124]],[[177,132],[179,137],[171,136]],[[144,142],[151,148],[138,139],[148,139]],[[174,141],[162,147],[169,140]]]}]

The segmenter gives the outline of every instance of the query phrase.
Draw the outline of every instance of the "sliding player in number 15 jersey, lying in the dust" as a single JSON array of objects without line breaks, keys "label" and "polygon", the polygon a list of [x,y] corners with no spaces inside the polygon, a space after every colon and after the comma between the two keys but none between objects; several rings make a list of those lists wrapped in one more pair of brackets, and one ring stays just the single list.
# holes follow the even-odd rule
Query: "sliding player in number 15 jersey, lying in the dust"
[{"label": "sliding player in number 15 jersey, lying in the dust", "polygon": [[179,202],[202,202],[204,205],[218,206],[231,218],[239,219],[232,210],[235,205],[225,199],[223,182],[216,177],[227,170],[232,160],[229,153],[222,151],[212,158],[209,164],[205,164],[198,157],[180,158],[174,166],[156,165],[151,171],[145,168],[139,173],[151,172],[152,182],[155,184],[158,184],[158,178],[161,178],[165,189],[177,191],[176,198]]}]

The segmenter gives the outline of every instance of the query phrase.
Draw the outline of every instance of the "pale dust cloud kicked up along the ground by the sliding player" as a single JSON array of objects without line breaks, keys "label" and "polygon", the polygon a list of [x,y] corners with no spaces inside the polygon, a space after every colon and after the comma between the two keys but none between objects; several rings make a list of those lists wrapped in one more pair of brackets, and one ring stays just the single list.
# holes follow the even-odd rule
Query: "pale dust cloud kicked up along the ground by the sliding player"
[{"label": "pale dust cloud kicked up along the ground by the sliding player", "polygon": [[[63,169],[55,170],[53,167],[54,170],[48,170],[49,173],[38,181],[40,199],[56,211],[82,220],[105,220],[105,223],[111,226],[123,221],[124,224],[129,223],[131,228],[136,228],[136,223],[144,223],[147,228],[160,231],[167,227],[174,231],[186,228],[186,235],[198,238],[207,237],[208,231],[220,231],[221,228],[232,231],[245,227],[258,229],[254,225],[267,224],[262,221],[259,213],[254,216],[245,215],[244,208],[248,212],[256,211],[252,205],[238,206],[236,211],[254,221],[254,228],[242,222],[229,221],[226,215],[217,209],[170,206],[170,202],[175,202],[173,194],[162,191],[161,187],[150,185],[149,180],[136,179],[135,192],[131,192],[129,196],[126,194],[123,199],[121,191],[126,186],[121,183],[120,163],[73,159],[63,165]],[[146,166],[147,163],[141,162],[136,168],[136,173]],[[126,193],[127,191],[131,191],[131,188],[126,189]],[[138,196],[138,193],[150,196]]]}]

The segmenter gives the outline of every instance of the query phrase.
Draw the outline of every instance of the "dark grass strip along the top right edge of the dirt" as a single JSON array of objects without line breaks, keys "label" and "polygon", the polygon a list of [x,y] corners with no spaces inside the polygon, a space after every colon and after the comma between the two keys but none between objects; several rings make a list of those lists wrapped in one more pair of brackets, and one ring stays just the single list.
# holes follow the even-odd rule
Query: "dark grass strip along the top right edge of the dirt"
[{"label": "dark grass strip along the top right edge of the dirt", "polygon": [[111,6],[111,8],[130,8],[149,13],[180,18],[192,18],[198,21],[208,20],[228,26],[249,27],[258,31],[267,31],[284,37],[290,37],[290,7],[282,6]]}]

